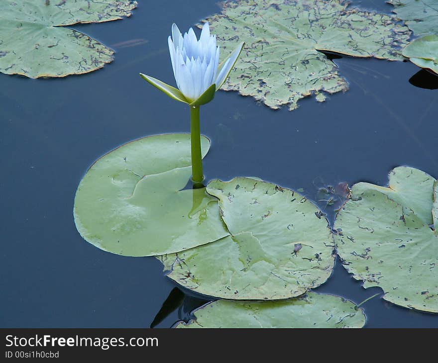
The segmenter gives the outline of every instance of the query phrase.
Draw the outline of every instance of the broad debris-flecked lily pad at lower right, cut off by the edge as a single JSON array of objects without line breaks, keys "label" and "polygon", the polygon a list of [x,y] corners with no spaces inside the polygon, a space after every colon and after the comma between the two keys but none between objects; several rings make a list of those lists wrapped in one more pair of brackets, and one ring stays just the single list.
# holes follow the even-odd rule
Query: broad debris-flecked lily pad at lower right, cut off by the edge
[{"label": "broad debris-flecked lily pad at lower right, cut off by the edge", "polygon": [[[399,183],[401,191],[353,186],[351,199],[335,220],[337,253],[365,288],[379,286],[383,298],[397,305],[438,312],[437,219],[435,232],[425,222],[437,211],[432,202],[437,182],[420,171],[411,174],[411,181],[397,169],[393,175],[399,182],[406,176]],[[429,216],[422,215],[422,206],[430,208]]]}]

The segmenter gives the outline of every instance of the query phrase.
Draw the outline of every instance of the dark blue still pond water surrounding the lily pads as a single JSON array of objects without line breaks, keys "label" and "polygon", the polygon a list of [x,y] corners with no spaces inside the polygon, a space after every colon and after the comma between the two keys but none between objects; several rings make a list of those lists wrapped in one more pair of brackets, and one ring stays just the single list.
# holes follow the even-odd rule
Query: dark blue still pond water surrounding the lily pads
[{"label": "dark blue still pond water surrounding the lily pads", "polygon": [[[392,8],[383,0],[352,5],[385,13]],[[170,327],[208,301],[175,290],[155,258],[116,256],[85,242],[72,211],[79,181],[101,155],[142,136],[190,131],[186,106],[138,73],[173,85],[172,22],[187,30],[218,11],[216,0],[191,0],[190,6],[140,0],[129,19],[74,27],[116,50],[103,70],[49,80],[0,74],[2,327],[149,327],[172,292],[169,314],[155,321]],[[315,200],[322,185],[384,185],[398,165],[437,177],[438,77],[410,62],[333,62],[349,91],[324,103],[304,99],[292,112],[218,92],[201,109],[202,133],[212,139],[207,179],[257,176],[303,188]],[[336,261],[316,291],[359,303],[382,290],[365,290]],[[379,297],[362,306],[367,327],[438,327],[438,314]]]}]

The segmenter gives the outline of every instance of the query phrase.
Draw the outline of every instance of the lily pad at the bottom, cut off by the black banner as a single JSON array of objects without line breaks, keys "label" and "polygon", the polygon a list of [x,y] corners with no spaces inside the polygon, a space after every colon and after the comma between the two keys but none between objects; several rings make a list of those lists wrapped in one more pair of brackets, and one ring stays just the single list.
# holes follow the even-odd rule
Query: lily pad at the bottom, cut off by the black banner
[{"label": "lily pad at the bottom, cut off by the black banner", "polygon": [[282,301],[217,300],[175,328],[362,328],[365,314],[351,301],[314,292]]}]

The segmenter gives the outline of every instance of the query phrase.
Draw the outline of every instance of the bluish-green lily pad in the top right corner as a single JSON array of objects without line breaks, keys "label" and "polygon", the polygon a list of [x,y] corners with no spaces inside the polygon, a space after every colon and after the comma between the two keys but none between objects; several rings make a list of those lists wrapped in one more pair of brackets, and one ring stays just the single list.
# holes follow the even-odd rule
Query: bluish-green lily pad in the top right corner
[{"label": "bluish-green lily pad in the top right corner", "polygon": [[438,35],[437,0],[389,0],[393,12],[402,19],[415,35]]}]

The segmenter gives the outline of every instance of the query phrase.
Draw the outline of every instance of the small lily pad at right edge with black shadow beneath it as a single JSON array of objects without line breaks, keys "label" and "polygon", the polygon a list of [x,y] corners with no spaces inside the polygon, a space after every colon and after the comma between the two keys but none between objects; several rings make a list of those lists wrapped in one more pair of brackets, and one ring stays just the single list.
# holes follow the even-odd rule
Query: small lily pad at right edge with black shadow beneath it
[{"label": "small lily pad at right edge with black shadow beneath it", "polygon": [[415,65],[438,74],[438,35],[414,40],[403,50],[403,55]]}]

